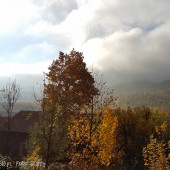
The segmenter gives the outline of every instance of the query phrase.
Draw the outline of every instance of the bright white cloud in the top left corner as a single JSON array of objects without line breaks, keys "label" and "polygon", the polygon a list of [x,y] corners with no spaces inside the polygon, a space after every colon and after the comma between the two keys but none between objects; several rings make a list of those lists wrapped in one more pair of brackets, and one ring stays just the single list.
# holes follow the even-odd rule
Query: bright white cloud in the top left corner
[{"label": "bright white cloud in the top left corner", "polygon": [[38,19],[37,8],[29,0],[0,0],[0,34],[15,33]]}]

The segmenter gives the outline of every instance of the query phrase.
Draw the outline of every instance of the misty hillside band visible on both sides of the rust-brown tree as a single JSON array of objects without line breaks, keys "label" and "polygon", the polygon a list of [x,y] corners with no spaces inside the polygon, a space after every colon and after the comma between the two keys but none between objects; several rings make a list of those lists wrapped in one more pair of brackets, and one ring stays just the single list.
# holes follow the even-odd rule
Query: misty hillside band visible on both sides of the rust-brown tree
[{"label": "misty hillside band visible on both sides of the rust-brown tree", "polygon": [[[107,76],[106,76],[107,77]],[[38,75],[15,75],[11,77],[0,77],[0,88],[6,83],[16,80],[21,87],[19,100],[14,108],[14,112],[20,110],[39,110],[35,95],[41,98],[43,89],[43,74]],[[114,89],[114,95],[118,97],[118,106],[127,107],[147,105],[150,107],[161,107],[170,110],[170,80],[164,81],[127,81],[124,83],[111,83],[105,81],[108,87]],[[1,101],[0,101],[1,102]],[[0,107],[0,114],[4,115],[4,110]]]}]

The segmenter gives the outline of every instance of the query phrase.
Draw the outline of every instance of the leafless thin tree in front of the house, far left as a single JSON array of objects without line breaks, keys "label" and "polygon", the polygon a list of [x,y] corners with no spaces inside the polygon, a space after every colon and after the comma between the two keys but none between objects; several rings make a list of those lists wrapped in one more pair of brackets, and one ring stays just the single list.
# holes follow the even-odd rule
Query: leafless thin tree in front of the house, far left
[{"label": "leafless thin tree in front of the house, far left", "polygon": [[13,109],[14,106],[19,98],[20,95],[20,86],[16,83],[16,80],[11,82],[10,80],[1,89],[1,95],[2,95],[2,108],[7,112],[7,136],[6,136],[6,142],[5,142],[5,154],[9,154],[9,135],[11,130],[11,117],[13,116]]}]

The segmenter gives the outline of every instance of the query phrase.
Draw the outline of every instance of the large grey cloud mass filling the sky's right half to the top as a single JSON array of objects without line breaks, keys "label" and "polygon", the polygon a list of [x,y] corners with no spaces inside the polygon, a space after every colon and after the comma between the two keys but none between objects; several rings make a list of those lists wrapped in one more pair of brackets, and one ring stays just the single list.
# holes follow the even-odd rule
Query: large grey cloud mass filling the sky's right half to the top
[{"label": "large grey cloud mass filling the sky's right half to the top", "polygon": [[169,1],[108,1],[96,11],[87,44],[110,82],[170,79],[169,7]]}]

